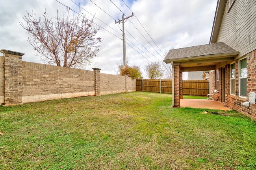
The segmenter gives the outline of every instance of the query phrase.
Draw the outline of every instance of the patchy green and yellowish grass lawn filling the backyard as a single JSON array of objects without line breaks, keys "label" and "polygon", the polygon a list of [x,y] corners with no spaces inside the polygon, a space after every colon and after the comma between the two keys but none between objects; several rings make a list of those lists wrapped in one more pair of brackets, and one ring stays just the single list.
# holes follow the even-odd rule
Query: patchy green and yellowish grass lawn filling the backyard
[{"label": "patchy green and yellowish grass lawn filling the backyard", "polygon": [[0,169],[256,169],[256,122],[169,108],[171,94],[0,107]]}]

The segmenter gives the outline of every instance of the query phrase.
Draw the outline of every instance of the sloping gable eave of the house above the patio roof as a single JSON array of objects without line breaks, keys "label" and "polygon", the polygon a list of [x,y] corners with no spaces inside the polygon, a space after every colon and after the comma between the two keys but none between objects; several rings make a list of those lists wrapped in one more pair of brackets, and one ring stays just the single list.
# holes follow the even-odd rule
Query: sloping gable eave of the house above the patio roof
[{"label": "sloping gable eave of the house above the patio roof", "polygon": [[223,18],[225,5],[226,5],[226,0],[218,0],[216,11],[215,11],[215,16],[214,16],[214,20],[213,20],[213,26],[211,29],[210,44],[217,42],[217,37],[219,34],[219,29],[221,27],[221,21]]}]

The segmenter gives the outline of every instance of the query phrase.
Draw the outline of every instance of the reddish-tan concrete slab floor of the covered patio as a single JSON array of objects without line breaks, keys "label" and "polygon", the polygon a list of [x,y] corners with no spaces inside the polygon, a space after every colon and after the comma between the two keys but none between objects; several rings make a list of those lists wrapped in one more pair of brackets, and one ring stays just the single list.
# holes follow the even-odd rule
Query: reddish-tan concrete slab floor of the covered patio
[{"label": "reddish-tan concrete slab floor of the covered patio", "polygon": [[219,101],[208,101],[206,99],[180,99],[180,107],[215,109],[225,111],[231,110],[230,108],[223,106],[223,103]]}]

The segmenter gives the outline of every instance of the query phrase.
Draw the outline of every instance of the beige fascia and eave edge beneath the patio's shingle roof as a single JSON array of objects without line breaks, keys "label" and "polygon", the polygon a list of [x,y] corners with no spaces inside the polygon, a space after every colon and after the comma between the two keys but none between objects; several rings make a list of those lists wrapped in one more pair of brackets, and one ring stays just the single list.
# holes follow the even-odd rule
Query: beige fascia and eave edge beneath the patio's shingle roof
[{"label": "beige fascia and eave edge beneath the patio's shingle roof", "polygon": [[230,57],[236,57],[239,54],[239,52],[234,53],[223,53],[223,54],[214,54],[214,55],[202,55],[202,56],[196,56],[196,57],[186,57],[186,58],[175,58],[175,59],[166,59],[163,60],[166,64],[171,62],[184,62],[189,60],[204,60],[204,59],[215,59],[215,58],[230,58]]}]

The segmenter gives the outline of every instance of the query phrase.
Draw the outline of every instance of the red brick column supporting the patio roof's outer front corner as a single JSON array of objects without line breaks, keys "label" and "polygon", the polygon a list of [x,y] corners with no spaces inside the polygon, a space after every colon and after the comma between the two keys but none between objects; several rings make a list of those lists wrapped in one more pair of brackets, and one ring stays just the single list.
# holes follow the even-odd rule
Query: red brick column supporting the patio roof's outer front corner
[{"label": "red brick column supporting the patio roof's outer front corner", "polygon": [[[180,65],[174,65],[173,68],[174,75],[174,107],[180,107],[180,88],[181,88],[181,95],[182,95],[182,72],[180,71]],[[180,76],[181,73],[181,76]],[[180,80],[181,79],[181,80]]]}]

